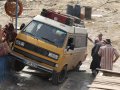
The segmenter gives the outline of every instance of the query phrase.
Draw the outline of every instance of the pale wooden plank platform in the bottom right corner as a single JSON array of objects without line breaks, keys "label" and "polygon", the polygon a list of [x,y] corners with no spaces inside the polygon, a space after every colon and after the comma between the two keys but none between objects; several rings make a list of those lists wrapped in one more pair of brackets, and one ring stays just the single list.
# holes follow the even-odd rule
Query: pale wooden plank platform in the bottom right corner
[{"label": "pale wooden plank platform in the bottom right corner", "polygon": [[[120,90],[120,73],[100,69],[98,75],[91,85],[88,85],[88,90]],[[104,76],[107,73],[108,76]],[[112,75],[112,76],[111,76]]]}]

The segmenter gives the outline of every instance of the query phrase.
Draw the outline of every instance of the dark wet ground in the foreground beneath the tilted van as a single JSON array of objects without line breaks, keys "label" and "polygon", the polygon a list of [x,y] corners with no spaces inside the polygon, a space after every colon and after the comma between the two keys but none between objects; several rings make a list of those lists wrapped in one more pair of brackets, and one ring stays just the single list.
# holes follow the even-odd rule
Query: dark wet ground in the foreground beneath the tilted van
[{"label": "dark wet ground in the foreground beneath the tilted van", "polygon": [[82,66],[82,69],[87,70],[86,72],[69,72],[66,81],[57,86],[43,78],[41,73],[24,69],[22,72],[14,74],[9,82],[1,84],[0,90],[88,90],[87,85],[92,83],[94,77],[87,64],[88,62]]}]

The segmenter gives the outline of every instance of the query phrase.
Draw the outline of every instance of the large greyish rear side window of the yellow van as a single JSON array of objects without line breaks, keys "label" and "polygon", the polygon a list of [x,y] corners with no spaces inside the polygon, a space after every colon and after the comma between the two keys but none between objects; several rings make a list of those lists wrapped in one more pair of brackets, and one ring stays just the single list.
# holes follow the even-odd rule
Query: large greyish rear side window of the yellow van
[{"label": "large greyish rear side window of the yellow van", "polygon": [[87,34],[76,34],[75,35],[75,48],[87,46]]}]

